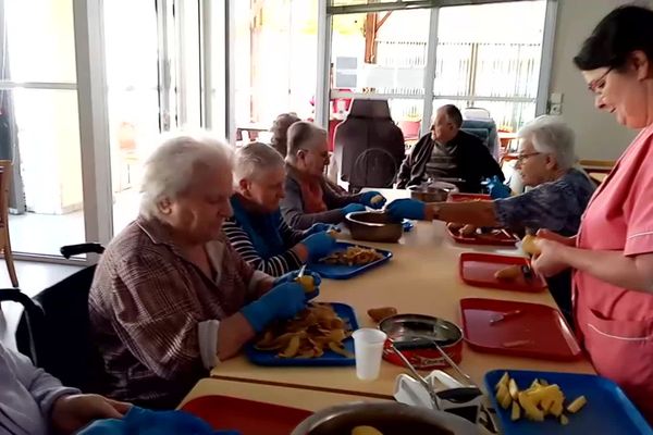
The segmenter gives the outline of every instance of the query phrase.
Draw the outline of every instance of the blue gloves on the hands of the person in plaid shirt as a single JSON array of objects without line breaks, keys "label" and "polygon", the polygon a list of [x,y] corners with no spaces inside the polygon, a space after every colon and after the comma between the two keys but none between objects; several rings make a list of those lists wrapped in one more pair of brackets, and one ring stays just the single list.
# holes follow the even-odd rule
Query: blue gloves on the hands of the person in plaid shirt
[{"label": "blue gloves on the hands of the person in plaid shirt", "polygon": [[245,306],[241,313],[257,333],[262,332],[274,320],[294,318],[306,308],[306,303],[320,294],[322,278],[315,272],[305,271],[313,278],[312,291],[307,291],[296,282],[299,271],[286,273],[274,279],[272,289],[254,302]]}]

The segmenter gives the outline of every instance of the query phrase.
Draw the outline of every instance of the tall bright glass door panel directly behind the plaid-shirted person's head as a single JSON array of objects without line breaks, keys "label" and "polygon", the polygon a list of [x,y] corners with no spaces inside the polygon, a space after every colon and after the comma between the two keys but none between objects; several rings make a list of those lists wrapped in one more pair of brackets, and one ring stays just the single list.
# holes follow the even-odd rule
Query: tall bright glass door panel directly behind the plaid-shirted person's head
[{"label": "tall bright glass door panel directly behind the plaid-shirted person's head", "polygon": [[143,163],[161,133],[201,124],[199,5],[103,2],[113,234],[136,219]]}]

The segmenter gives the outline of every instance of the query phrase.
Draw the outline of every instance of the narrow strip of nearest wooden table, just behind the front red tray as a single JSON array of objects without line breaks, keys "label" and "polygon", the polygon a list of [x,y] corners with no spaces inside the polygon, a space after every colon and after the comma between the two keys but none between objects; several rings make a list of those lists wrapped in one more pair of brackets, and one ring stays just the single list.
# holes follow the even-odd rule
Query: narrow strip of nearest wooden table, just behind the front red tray
[{"label": "narrow strip of nearest wooden table, just behind the front red tray", "polygon": [[362,395],[346,395],[324,393],[296,387],[281,387],[261,384],[243,383],[238,381],[223,381],[215,378],[200,380],[188,395],[182,400],[178,408],[193,399],[205,396],[229,396],[245,400],[256,400],[274,403],[283,407],[317,411],[335,405],[352,401],[383,401]]}]

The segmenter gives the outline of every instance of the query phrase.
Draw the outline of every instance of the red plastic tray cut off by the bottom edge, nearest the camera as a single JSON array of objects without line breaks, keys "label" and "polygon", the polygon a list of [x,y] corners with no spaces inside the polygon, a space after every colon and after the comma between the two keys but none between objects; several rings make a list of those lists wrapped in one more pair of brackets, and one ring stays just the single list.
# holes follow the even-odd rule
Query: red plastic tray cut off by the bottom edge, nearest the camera
[{"label": "red plastic tray cut off by the bottom edge, nearest the camera", "polygon": [[288,435],[310,411],[227,396],[204,396],[182,408],[215,431],[235,430],[243,435]]}]

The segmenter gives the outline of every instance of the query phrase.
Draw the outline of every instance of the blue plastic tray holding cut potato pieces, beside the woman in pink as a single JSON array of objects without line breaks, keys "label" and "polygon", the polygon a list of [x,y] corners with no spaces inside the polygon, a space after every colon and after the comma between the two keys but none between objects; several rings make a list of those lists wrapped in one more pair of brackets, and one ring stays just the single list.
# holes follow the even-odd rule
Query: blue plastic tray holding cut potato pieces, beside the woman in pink
[{"label": "blue plastic tray holding cut potato pieces, beside the woman in pink", "polygon": [[[569,424],[563,426],[556,419],[547,417],[544,422],[531,422],[523,418],[510,421],[510,408],[503,409],[496,402],[494,386],[508,372],[519,389],[526,389],[534,378],[546,380],[559,385],[567,400],[584,395],[588,403],[576,414],[567,414]],[[651,435],[642,414],[626,397],[621,388],[605,377],[590,374],[531,372],[526,370],[494,370],[485,374],[485,387],[498,415],[504,435],[556,435],[556,434],[605,434]]]}]

